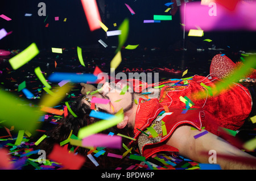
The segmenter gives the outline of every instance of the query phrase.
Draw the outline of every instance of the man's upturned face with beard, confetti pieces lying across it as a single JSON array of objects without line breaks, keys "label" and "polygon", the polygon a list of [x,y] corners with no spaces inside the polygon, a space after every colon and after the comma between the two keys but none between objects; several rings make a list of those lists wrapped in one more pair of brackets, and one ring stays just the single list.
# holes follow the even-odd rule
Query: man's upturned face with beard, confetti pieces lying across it
[{"label": "man's upturned face with beard, confetti pieces lying across it", "polygon": [[[92,99],[93,96],[101,99],[108,99],[108,104],[100,104],[95,103],[97,108],[101,108],[102,110],[109,113],[117,113],[119,110],[123,109],[123,112],[129,111],[133,108],[134,105],[134,93],[131,88],[125,92],[125,94],[121,94],[122,89],[126,86],[125,81],[119,81],[118,83],[104,83],[101,91],[97,92],[93,95],[87,95],[88,98]],[[129,84],[128,84],[129,86]],[[90,103],[86,100],[83,100],[85,104],[90,106]]]}]

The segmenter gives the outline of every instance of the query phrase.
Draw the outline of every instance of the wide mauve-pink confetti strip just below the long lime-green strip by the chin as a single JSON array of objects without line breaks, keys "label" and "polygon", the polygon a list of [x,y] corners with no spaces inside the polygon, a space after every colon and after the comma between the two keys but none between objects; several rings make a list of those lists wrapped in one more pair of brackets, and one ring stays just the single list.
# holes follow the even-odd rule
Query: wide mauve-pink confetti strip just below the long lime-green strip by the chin
[{"label": "wide mauve-pink confetti strip just below the long lime-green strip by the chin", "polygon": [[93,134],[82,139],[83,146],[106,147],[113,149],[122,148],[122,137],[108,136],[107,134]]}]

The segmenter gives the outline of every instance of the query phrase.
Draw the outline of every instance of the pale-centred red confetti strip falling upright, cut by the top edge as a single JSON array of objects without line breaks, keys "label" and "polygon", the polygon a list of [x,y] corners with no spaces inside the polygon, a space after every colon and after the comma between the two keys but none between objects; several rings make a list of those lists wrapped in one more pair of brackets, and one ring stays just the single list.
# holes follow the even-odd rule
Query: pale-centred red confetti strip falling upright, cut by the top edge
[{"label": "pale-centred red confetti strip falling upright, cut by the top edge", "polygon": [[90,31],[101,28],[101,16],[98,11],[96,0],[81,0],[82,7],[84,8],[85,16],[89,24]]}]

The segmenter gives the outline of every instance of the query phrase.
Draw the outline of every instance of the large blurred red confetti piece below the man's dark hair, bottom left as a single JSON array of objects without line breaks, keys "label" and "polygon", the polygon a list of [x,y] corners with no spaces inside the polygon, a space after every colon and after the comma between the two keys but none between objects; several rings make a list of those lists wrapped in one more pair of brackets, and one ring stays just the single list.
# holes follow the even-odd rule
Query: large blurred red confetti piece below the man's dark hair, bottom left
[{"label": "large blurred red confetti piece below the man's dark hair, bottom left", "polygon": [[48,158],[62,163],[70,170],[79,170],[85,162],[85,158],[81,155],[69,153],[68,150],[61,148],[59,145],[53,146],[53,150],[48,155]]}]

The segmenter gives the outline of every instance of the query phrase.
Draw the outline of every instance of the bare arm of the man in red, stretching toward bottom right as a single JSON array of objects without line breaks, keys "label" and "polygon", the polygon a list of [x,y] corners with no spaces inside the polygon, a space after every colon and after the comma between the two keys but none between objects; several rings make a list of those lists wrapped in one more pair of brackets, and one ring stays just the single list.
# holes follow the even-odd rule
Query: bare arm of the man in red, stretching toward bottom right
[{"label": "bare arm of the man in red, stretching toward bottom right", "polygon": [[[188,125],[182,125],[172,133],[166,144],[179,149],[180,155],[200,163],[209,163],[209,157],[212,154],[207,153],[210,150],[215,150],[216,163],[221,166],[221,169],[256,169],[255,157],[230,145],[229,142],[210,132],[195,139],[194,136],[201,132],[191,130]],[[218,157],[218,155],[220,156]],[[225,157],[221,157],[221,155],[225,155]],[[241,162],[241,160],[244,162]],[[250,163],[246,163],[246,160],[249,160]]]}]

